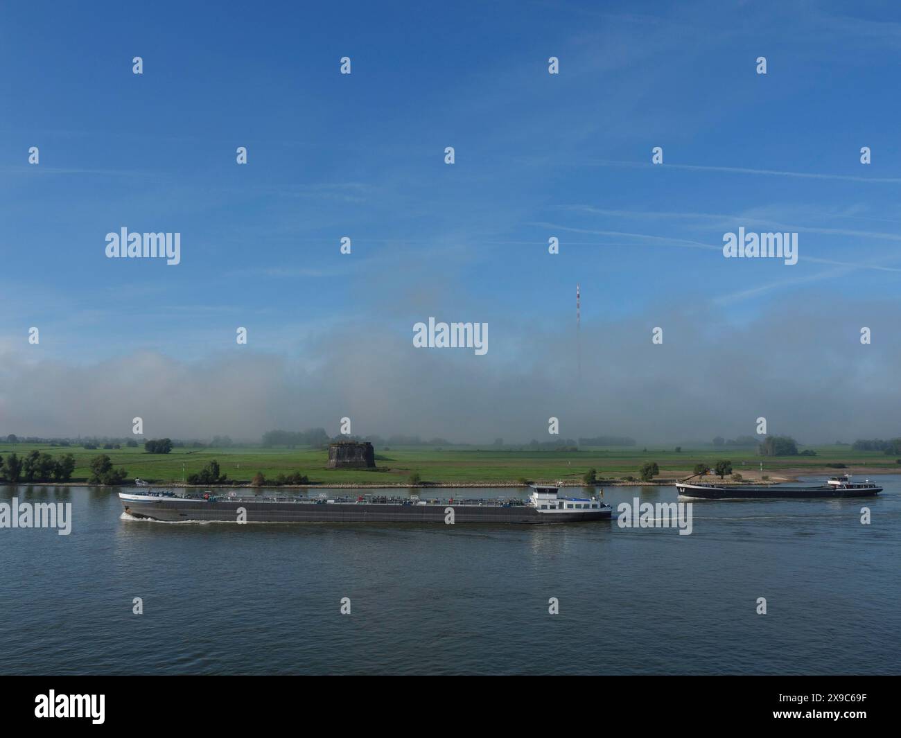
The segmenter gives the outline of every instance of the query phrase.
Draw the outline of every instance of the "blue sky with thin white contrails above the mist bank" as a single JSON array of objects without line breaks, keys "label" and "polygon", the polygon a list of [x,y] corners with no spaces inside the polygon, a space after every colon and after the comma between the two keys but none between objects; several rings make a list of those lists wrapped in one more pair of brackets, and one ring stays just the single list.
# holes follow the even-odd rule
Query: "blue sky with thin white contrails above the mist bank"
[{"label": "blue sky with thin white contrails above the mist bank", "polygon": [[[499,381],[541,362],[542,336],[571,349],[577,282],[583,341],[614,352],[617,328],[643,341],[676,315],[711,348],[764,342],[761,315],[811,305],[896,325],[895,4],[211,7],[0,9],[0,346],[17,386],[36,366],[64,385],[149,353],[227,361],[236,326],[290,374],[327,363],[336,336],[407,345],[429,315],[490,323]],[[725,260],[742,225],[798,232],[799,263]],[[123,226],[181,232],[181,264],[107,260]],[[866,360],[887,372],[887,357]],[[451,424],[474,427],[493,430]]]}]

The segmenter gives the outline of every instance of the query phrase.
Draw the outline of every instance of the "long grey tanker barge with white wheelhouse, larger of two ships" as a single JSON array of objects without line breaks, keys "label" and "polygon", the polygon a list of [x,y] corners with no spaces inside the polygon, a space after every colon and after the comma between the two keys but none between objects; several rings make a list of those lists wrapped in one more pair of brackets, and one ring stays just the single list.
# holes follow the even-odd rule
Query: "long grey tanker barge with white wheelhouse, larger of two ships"
[{"label": "long grey tanker barge with white wheelhouse, larger of two ships", "polygon": [[[602,493],[603,494],[603,491]],[[162,522],[219,523],[582,523],[609,520],[599,497],[562,497],[559,487],[532,487],[527,499],[242,497],[231,492],[177,495],[168,490],[120,492],[126,515]]]}]

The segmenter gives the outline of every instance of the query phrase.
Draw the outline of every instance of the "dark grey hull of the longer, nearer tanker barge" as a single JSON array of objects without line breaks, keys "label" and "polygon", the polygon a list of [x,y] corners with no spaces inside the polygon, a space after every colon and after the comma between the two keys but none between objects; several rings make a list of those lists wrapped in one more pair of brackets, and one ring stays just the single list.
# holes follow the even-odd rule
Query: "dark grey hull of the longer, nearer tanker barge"
[{"label": "dark grey hull of the longer, nearer tanker barge", "polygon": [[159,497],[123,500],[128,515],[169,523],[206,521],[237,523],[243,509],[246,523],[514,523],[555,524],[609,520],[610,508],[539,513],[527,506],[391,505],[376,503],[228,502]]}]

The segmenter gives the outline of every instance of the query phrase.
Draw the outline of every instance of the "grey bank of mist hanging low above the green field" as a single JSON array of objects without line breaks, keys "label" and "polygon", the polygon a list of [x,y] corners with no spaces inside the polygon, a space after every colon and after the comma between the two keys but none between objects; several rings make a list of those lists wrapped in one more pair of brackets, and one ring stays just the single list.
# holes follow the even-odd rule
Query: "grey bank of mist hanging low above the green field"
[{"label": "grey bank of mist hanging low above the green field", "polygon": [[[901,345],[891,311],[876,302],[796,296],[742,324],[687,296],[625,319],[583,317],[581,378],[574,315],[528,324],[487,306],[397,304],[392,314],[391,322],[310,326],[300,351],[264,351],[250,329],[247,346],[191,359],[134,350],[73,364],[7,340],[0,433],[125,436],[136,416],[149,437],[253,442],[276,428],[336,434],[343,416],[359,435],[479,443],[599,434],[710,441],[753,435],[760,416],[769,433],[805,443],[901,430]],[[486,321],[487,354],[415,349],[412,326],[430,314]],[[651,343],[657,326],[660,345]],[[869,345],[860,343],[862,326]],[[560,436],[548,433],[551,416]]]}]

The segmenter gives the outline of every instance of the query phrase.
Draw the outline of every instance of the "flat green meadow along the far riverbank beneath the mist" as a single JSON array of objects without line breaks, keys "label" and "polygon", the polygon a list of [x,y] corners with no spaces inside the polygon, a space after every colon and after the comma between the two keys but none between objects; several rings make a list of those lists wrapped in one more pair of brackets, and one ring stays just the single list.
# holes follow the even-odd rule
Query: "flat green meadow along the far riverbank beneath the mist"
[{"label": "flat green meadow along the far riverbank beneath the mist", "polygon": [[733,470],[746,476],[756,474],[763,462],[764,473],[778,475],[791,470],[796,475],[835,473],[827,464],[843,463],[847,471],[866,469],[868,473],[901,473],[896,457],[880,451],[851,451],[850,446],[812,448],[816,456],[761,457],[752,449],[709,448],[681,452],[651,448],[583,448],[579,451],[503,451],[495,448],[457,446],[432,449],[423,447],[376,449],[378,469],[326,469],[328,452],[319,449],[265,449],[259,446],[214,448],[175,448],[167,454],[147,453],[143,447],[129,449],[85,449],[80,446],[50,446],[36,443],[0,442],[4,458],[15,452],[20,458],[37,449],[59,456],[71,453],[77,466],[72,482],[85,482],[88,463],[99,454],[110,457],[116,467],[126,469],[127,482],[139,477],[156,484],[177,484],[187,475],[199,472],[211,460],[217,460],[221,471],[238,484],[247,484],[257,472],[268,480],[278,474],[300,472],[311,484],[405,484],[418,473],[423,482],[473,484],[478,482],[515,483],[530,481],[578,481],[594,467],[599,479],[638,477],[638,469],[648,461],[660,467],[658,478],[687,477],[697,463],[711,466],[717,460],[731,460]]}]

